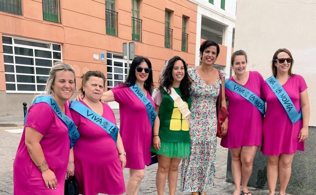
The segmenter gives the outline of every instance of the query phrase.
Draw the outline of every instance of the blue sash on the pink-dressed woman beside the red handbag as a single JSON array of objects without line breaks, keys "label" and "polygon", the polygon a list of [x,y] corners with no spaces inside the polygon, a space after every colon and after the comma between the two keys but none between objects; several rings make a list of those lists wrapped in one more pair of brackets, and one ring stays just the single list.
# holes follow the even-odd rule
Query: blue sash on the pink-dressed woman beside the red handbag
[{"label": "blue sash on the pink-dressed woman beside the red handbag", "polygon": [[252,103],[252,105],[255,106],[262,114],[265,114],[265,102],[249,89],[244,88],[240,84],[229,79],[226,79],[225,81],[225,88],[239,94],[241,97]]}]

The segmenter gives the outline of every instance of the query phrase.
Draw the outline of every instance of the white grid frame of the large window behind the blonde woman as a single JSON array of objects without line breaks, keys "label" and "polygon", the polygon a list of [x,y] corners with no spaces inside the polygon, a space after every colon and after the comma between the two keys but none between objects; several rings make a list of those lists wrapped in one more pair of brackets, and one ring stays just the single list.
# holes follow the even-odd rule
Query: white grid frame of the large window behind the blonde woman
[{"label": "white grid frame of the large window behind the blonde woman", "polygon": [[[2,34],[2,36],[4,36],[4,37],[11,37],[12,38],[12,44],[3,43],[2,45],[3,46],[12,46],[13,54],[3,53],[3,57],[4,56],[13,56],[13,63],[4,63],[4,64],[6,64],[6,65],[13,65],[14,66],[14,72],[4,72],[4,73],[7,74],[7,75],[14,75],[14,77],[15,77],[15,82],[7,82],[7,81],[5,82],[5,84],[15,84],[15,90],[6,90],[6,93],[18,93],[18,94],[39,94],[39,93],[43,93],[44,91],[38,91],[37,90],[37,85],[46,85],[46,84],[45,83],[37,83],[37,76],[45,76],[45,77],[47,77],[48,75],[36,74],[36,68],[49,69],[49,68],[52,68],[52,67],[36,66],[35,65],[35,59],[52,60],[52,66],[53,66],[54,61],[62,61],[63,60],[62,45],[59,44],[59,43],[53,43],[53,42],[47,42],[47,41],[44,42],[44,41],[34,40],[34,39],[26,39],[26,38],[16,37],[16,36],[11,36],[11,35],[6,35],[6,34]],[[1,36],[1,39],[2,39],[2,36]],[[48,48],[43,48],[43,47],[35,47],[35,46],[26,46],[26,45],[15,44],[14,39],[24,40],[24,41],[31,41],[31,42],[37,42],[37,43],[42,43],[42,44],[49,44],[51,48],[48,49]],[[54,45],[59,45],[60,46],[60,51],[53,50],[53,44]],[[23,48],[27,48],[27,49],[33,49],[33,56],[16,55],[14,47],[23,47]],[[50,51],[52,53],[52,58],[35,57],[35,49],[36,50],[42,50],[42,51]],[[54,56],[53,56],[53,52],[60,53],[61,59],[55,59]],[[16,64],[15,63],[15,57],[32,58],[33,59],[33,65]],[[34,74],[16,73],[16,66],[33,67],[34,68]],[[35,82],[33,82],[33,83],[17,82],[17,80],[16,80],[16,76],[17,75],[34,76],[34,81]],[[35,91],[21,91],[21,90],[17,90],[17,85],[18,84],[35,85]]]}]

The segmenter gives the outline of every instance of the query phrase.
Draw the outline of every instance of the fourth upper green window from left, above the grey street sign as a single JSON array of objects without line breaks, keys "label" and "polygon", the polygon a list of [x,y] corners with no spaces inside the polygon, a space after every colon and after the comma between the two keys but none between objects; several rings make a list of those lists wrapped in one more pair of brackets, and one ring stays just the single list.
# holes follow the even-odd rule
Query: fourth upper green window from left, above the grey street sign
[{"label": "fourth upper green window from left, above the grey street sign", "polygon": [[142,20],[139,19],[139,0],[132,0],[132,40],[142,41]]}]

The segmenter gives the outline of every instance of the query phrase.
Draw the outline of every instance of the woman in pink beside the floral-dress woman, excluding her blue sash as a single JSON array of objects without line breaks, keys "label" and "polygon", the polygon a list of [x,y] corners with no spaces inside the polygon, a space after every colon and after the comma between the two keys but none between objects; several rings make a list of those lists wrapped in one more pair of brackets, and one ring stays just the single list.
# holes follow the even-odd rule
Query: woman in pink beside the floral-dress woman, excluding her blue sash
[{"label": "woman in pink beside the floral-dress woman, excluding her blue sash", "polygon": [[[246,71],[246,52],[235,51],[231,57],[231,66],[235,75],[229,80],[260,97],[264,79],[257,71]],[[229,148],[232,155],[231,166],[235,183],[235,191],[232,194],[239,195],[241,192],[242,195],[248,195],[251,194],[247,185],[252,174],[252,162],[262,142],[263,114],[245,97],[227,87],[225,94],[229,102],[228,130],[227,135],[221,140],[221,146]]]}]

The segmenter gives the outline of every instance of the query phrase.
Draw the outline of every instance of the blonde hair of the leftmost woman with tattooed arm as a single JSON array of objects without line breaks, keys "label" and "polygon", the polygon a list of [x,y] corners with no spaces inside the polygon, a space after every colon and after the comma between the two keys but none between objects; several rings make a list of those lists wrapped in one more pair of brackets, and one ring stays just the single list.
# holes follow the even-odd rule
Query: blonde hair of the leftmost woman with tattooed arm
[{"label": "blonde hair of the leftmost woman with tattooed arm", "polygon": [[[44,96],[44,95],[50,95],[53,96],[54,95],[54,88],[52,87],[52,85],[55,82],[55,77],[56,77],[56,73],[59,71],[70,71],[74,74],[75,77],[75,92],[76,92],[76,76],[75,76],[75,70],[67,63],[64,62],[55,62],[54,66],[51,68],[51,70],[49,71],[49,76],[46,82],[46,86],[45,86],[45,90],[43,93],[38,94],[34,97],[33,101],[35,100],[35,98],[37,98],[38,96]],[[33,102],[32,101],[32,102]]]}]

